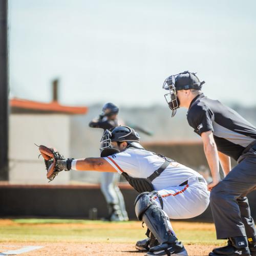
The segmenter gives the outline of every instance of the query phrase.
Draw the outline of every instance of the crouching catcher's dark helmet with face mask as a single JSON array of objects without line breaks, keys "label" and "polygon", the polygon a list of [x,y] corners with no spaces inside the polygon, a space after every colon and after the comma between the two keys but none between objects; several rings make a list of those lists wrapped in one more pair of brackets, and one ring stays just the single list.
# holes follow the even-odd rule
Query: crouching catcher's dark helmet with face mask
[{"label": "crouching catcher's dark helmet with face mask", "polygon": [[[117,126],[110,130],[105,130],[101,138],[100,156],[106,157],[120,152],[113,148],[111,142],[124,142],[126,141],[129,146],[143,148],[139,143],[140,136],[129,126]],[[128,147],[129,147],[128,146]]]}]

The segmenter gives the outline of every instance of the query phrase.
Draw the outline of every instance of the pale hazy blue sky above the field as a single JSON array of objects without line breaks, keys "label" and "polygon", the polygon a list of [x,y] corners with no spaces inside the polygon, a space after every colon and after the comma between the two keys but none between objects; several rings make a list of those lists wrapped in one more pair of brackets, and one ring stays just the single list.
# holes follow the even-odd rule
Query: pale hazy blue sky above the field
[{"label": "pale hazy blue sky above the field", "polygon": [[166,104],[185,70],[213,99],[256,105],[254,0],[9,0],[11,97],[68,105]]}]

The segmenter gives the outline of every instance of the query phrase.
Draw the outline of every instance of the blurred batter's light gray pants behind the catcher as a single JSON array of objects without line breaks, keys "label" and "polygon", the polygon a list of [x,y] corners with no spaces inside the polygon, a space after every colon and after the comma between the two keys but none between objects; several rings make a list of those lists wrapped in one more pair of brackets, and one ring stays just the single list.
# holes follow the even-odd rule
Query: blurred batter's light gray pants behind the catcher
[{"label": "blurred batter's light gray pants behind the catcher", "polygon": [[123,216],[127,216],[123,195],[118,187],[120,174],[102,173],[100,188],[108,204],[118,204]]}]

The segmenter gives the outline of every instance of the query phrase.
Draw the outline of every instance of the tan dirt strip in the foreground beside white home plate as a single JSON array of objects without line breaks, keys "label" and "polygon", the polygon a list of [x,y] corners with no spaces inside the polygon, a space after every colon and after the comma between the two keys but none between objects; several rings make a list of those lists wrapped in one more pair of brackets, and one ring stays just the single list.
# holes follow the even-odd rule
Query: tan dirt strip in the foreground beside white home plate
[{"label": "tan dirt strip in the foreground beside white home plate", "polygon": [[[17,247],[16,247],[16,246]],[[134,248],[134,244],[127,243],[29,243],[29,246],[44,246],[41,249],[33,250],[27,253],[22,253],[21,255],[26,256],[42,256],[42,255],[129,255],[129,256],[138,256],[144,255],[143,252],[138,252]],[[12,243],[11,249],[19,249],[24,244],[21,243]],[[213,248],[212,246],[198,246],[198,245],[185,245],[189,255],[208,255],[209,251]],[[0,244],[0,252],[10,250],[10,247]]]}]

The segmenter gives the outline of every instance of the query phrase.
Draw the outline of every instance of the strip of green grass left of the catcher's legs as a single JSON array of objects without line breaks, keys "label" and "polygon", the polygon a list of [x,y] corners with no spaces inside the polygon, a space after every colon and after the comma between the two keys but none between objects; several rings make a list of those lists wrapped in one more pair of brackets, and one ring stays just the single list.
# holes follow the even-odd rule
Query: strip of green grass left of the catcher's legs
[{"label": "strip of green grass left of the catcher's legs", "polygon": [[[145,230],[129,228],[136,222],[106,223],[102,221],[55,220],[55,219],[19,219],[10,226],[1,226],[1,241],[38,241],[38,242],[134,242],[134,238],[143,237]],[[48,224],[48,225],[44,225]],[[60,225],[50,225],[60,224]],[[66,224],[66,225],[61,225]],[[82,225],[72,225],[82,224]],[[93,225],[88,227],[87,225]],[[104,228],[101,226],[104,225]],[[120,228],[120,225],[124,226]],[[118,228],[116,228],[118,226]]]}]

